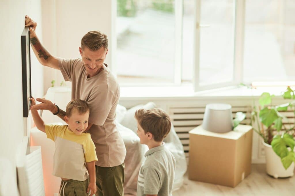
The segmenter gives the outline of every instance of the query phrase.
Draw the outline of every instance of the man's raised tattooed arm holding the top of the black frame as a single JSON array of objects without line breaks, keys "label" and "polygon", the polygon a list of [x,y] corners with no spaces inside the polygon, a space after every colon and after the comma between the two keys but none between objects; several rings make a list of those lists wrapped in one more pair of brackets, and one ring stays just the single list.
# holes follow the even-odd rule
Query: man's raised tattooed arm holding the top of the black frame
[{"label": "man's raised tattooed arm holding the top of the black frame", "polygon": [[42,46],[37,35],[36,35],[36,26],[37,23],[33,21],[29,16],[25,17],[25,26],[29,26],[30,29],[30,41],[32,45],[32,49],[38,59],[38,61],[47,67],[51,67],[54,69],[59,69],[58,67],[58,59],[50,55],[50,53]]}]

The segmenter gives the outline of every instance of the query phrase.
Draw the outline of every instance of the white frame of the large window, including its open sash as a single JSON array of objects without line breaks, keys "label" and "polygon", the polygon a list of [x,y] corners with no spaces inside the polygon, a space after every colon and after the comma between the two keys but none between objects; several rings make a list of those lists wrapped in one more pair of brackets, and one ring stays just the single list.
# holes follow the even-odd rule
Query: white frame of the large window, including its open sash
[{"label": "white frame of the large window, including its open sash", "polygon": [[[209,90],[220,87],[227,87],[240,84],[243,77],[243,54],[244,54],[244,29],[245,29],[245,0],[233,0],[235,1],[235,27],[234,27],[234,72],[233,80],[230,82],[216,83],[206,86],[200,86],[200,24],[201,21],[201,0],[195,0],[194,7],[194,60],[193,60],[193,79],[192,83],[194,91]],[[117,75],[117,63],[116,63],[116,49],[117,49],[117,37],[116,37],[116,17],[117,17],[117,0],[112,0],[112,72]],[[182,83],[182,26],[183,26],[183,0],[175,0],[175,64],[174,64],[174,83],[122,83],[121,86],[180,86]]]}]

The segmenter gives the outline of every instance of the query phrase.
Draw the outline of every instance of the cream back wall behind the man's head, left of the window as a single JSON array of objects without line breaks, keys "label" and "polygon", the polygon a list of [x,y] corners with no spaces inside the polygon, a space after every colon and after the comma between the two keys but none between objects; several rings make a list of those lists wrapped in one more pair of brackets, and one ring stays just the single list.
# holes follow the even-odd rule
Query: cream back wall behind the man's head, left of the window
[{"label": "cream back wall behind the man's head, left of the window", "polygon": [[[79,46],[82,37],[92,30],[105,33],[109,39],[106,63],[112,68],[115,43],[112,42],[112,4],[116,0],[42,0],[43,45],[54,56],[80,58]],[[115,25],[114,25],[115,26]],[[115,41],[116,42],[116,41]],[[55,79],[59,86],[63,77],[58,70],[44,69],[44,93]]]}]

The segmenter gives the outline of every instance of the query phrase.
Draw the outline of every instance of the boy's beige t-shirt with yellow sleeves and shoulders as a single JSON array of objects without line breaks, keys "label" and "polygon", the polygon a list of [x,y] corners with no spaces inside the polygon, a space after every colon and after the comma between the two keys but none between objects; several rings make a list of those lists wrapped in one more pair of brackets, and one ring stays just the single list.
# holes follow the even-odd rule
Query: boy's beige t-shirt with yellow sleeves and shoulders
[{"label": "boy's beige t-shirt with yellow sleeves and shoulders", "polygon": [[97,161],[95,145],[89,133],[77,135],[68,125],[45,125],[47,138],[55,142],[53,175],[71,180],[88,178],[85,162]]}]

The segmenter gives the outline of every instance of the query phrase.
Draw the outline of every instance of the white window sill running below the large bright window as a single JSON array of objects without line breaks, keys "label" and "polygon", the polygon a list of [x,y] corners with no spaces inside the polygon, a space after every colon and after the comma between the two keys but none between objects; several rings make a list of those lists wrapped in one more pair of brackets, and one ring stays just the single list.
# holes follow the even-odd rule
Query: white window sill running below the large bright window
[{"label": "white window sill running below the large bright window", "polygon": [[121,87],[121,100],[130,100],[138,98],[154,99],[177,99],[177,98],[195,98],[195,97],[234,97],[246,98],[257,96],[263,92],[269,92],[280,96],[286,87],[259,87],[257,89],[248,89],[247,87],[224,87],[206,91],[194,92],[192,85],[183,85],[178,87]]}]

